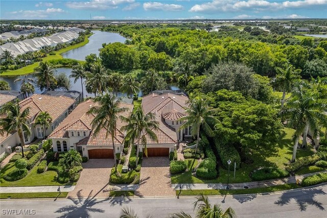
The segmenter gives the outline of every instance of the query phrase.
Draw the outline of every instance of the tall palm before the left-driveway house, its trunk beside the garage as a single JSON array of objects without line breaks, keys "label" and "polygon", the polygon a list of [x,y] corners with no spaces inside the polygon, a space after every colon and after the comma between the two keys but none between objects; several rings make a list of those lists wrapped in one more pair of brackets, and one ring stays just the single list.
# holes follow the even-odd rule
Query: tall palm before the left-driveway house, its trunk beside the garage
[{"label": "tall palm before the left-driveway house, its trunk beside the garage", "polygon": [[116,134],[116,123],[118,114],[127,111],[127,108],[120,107],[120,99],[116,99],[112,92],[105,93],[94,98],[95,106],[91,107],[87,113],[94,114],[95,117],[91,122],[94,137],[101,130],[106,130],[106,138],[110,135],[113,147],[113,158],[115,162],[115,172],[117,171],[116,149],[114,145],[114,136]]}]

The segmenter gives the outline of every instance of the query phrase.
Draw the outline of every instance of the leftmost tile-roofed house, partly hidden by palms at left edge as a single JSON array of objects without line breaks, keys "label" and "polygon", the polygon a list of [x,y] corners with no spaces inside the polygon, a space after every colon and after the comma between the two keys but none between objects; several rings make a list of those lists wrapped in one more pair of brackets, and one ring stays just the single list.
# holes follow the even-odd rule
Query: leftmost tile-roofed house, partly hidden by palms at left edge
[{"label": "leftmost tile-roofed house, partly hidden by palms at left edge", "polygon": [[[68,116],[74,109],[75,100],[67,98],[65,96],[48,96],[42,94],[33,94],[29,98],[19,102],[21,110],[30,108],[29,119],[27,124],[31,128],[31,135],[23,134],[25,143],[30,143],[33,139],[43,138],[43,127],[37,125],[34,127],[35,117],[41,112],[46,111],[52,117],[52,124],[45,130],[46,135],[50,135],[52,131],[62,122],[62,120]],[[7,134],[0,136],[1,153],[3,156],[5,148],[7,146],[14,147],[20,144],[20,140],[17,133]]]}]

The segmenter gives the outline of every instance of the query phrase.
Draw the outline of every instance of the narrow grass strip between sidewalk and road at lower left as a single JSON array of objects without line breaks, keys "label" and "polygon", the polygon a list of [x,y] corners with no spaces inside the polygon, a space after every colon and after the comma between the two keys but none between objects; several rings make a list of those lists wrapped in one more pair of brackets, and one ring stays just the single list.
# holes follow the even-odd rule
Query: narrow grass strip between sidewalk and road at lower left
[{"label": "narrow grass strip between sidewalk and road at lower left", "polygon": [[31,193],[0,193],[0,199],[19,198],[66,198],[68,192],[31,192]]}]

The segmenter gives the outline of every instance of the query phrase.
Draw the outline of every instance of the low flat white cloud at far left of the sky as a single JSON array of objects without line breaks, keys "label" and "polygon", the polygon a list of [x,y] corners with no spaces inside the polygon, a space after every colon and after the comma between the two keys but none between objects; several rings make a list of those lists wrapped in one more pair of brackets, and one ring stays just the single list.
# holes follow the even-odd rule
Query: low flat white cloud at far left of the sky
[{"label": "low flat white cloud at far left of the sky", "polygon": [[48,8],[46,10],[20,10],[12,11],[9,14],[14,14],[16,18],[46,18],[49,15],[65,12],[61,8]]}]

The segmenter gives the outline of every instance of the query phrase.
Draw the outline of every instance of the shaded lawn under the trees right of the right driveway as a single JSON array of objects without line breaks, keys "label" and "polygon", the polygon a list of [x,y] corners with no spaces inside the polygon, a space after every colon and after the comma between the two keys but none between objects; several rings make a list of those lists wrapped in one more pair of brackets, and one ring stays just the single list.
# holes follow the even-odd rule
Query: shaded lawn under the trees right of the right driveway
[{"label": "shaded lawn under the trees right of the right driveway", "polygon": [[[259,150],[253,151],[250,157],[253,160],[251,164],[242,163],[241,168],[236,171],[235,179],[233,178],[233,166],[230,166],[230,183],[251,182],[250,174],[254,169],[265,166],[273,166],[285,168],[292,158],[293,142],[292,134],[293,129],[284,128],[276,146],[273,148],[262,147]],[[314,154],[314,148],[308,146],[306,149],[298,149],[296,157],[301,158]],[[201,180],[192,176],[191,172],[183,174],[172,175],[172,183],[227,183],[228,170],[219,167],[219,177],[214,180]]]}]

